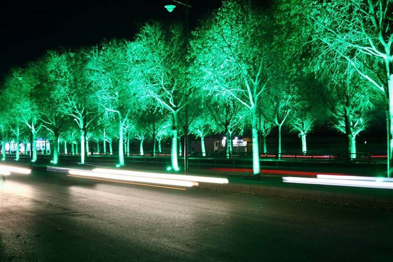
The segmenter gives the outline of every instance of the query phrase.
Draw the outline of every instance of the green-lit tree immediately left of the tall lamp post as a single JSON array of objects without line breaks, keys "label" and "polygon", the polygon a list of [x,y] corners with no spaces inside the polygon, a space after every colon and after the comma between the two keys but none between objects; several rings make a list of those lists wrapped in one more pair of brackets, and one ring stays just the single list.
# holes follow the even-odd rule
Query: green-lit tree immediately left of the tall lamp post
[{"label": "green-lit tree immediately left of the tall lamp post", "polygon": [[185,86],[185,41],[183,29],[147,23],[137,36],[139,52],[132,64],[138,64],[144,74],[145,91],[149,97],[169,112],[172,118],[171,166],[179,170],[177,139],[179,112],[187,102],[190,90]]}]

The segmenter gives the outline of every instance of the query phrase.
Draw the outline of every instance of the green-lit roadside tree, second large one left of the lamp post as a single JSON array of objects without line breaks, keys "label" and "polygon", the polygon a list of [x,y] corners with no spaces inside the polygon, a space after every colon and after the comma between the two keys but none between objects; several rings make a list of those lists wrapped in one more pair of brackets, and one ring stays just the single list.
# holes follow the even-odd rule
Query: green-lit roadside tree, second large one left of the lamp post
[{"label": "green-lit roadside tree, second large one left of the lamp post", "polygon": [[133,43],[113,40],[101,48],[91,50],[88,63],[89,77],[94,86],[98,87],[96,94],[99,105],[117,116],[120,166],[124,166],[125,122],[131,116],[138,117],[135,115],[141,110],[140,71],[135,66],[127,66],[128,54],[135,52],[127,49],[133,48]]}]

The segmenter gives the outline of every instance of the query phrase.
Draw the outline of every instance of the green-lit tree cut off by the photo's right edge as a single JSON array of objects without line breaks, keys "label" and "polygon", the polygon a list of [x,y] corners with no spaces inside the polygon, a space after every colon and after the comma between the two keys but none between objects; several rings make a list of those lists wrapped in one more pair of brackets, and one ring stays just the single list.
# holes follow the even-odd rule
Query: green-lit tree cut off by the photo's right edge
[{"label": "green-lit tree cut off by the photo's right edge", "polygon": [[344,58],[385,98],[388,176],[393,164],[392,9],[391,0],[303,0],[294,8],[309,11],[316,48],[332,54],[329,62]]}]

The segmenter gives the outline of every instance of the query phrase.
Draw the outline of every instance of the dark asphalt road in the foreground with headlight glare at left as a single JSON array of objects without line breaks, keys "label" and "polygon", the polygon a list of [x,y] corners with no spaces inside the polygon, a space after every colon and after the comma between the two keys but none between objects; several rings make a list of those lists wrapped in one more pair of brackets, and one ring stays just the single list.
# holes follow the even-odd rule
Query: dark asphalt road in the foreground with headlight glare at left
[{"label": "dark asphalt road in the foreground with headlight glare at left", "polygon": [[0,184],[0,261],[391,261],[393,212],[64,175]]}]

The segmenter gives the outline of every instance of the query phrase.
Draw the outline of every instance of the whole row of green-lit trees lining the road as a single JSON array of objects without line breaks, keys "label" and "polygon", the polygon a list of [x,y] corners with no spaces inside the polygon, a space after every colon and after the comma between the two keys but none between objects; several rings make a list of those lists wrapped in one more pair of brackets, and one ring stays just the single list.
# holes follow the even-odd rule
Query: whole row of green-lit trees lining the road
[{"label": "whole row of green-lit trees lining the road", "polygon": [[47,130],[55,163],[60,138],[80,142],[84,163],[89,140],[104,141],[106,151],[116,139],[124,165],[131,139],[142,148],[149,138],[155,153],[156,142],[171,138],[172,169],[179,170],[178,141],[186,133],[200,138],[204,154],[206,135],[231,139],[245,131],[259,174],[258,132],[266,152],[266,136],[277,127],[280,157],[283,125],[299,134],[306,153],[307,134],[329,122],[346,135],[354,158],[356,136],[385,104],[390,174],[391,9],[389,0],[275,0],[268,10],[225,0],[190,35],[181,24],[148,22],[133,40],[48,51],[4,80],[2,148],[10,134],[19,146],[28,128],[35,161],[37,133]]}]

